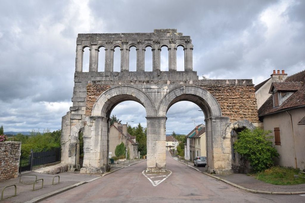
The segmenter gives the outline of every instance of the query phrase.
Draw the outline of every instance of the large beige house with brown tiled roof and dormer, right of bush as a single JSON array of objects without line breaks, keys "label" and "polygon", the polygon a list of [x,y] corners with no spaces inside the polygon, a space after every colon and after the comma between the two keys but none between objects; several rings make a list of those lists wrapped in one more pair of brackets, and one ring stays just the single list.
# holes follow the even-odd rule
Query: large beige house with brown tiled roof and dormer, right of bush
[{"label": "large beige house with brown tiled roof and dormer, right of bush", "polygon": [[258,115],[272,131],[276,164],[305,169],[305,70],[272,82]]}]

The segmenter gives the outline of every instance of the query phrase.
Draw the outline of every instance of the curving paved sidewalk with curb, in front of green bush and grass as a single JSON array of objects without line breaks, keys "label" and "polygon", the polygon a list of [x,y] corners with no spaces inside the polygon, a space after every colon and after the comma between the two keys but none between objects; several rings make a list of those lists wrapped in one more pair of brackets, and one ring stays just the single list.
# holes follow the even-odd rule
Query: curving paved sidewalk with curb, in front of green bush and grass
[{"label": "curving paved sidewalk with curb, in front of green bush and grass", "polygon": [[255,179],[254,176],[247,176],[246,174],[231,174],[231,175],[213,175],[206,173],[206,167],[193,166],[192,162],[181,162],[187,166],[202,172],[208,176],[221,180],[225,183],[238,187],[240,189],[261,194],[305,194],[305,184],[299,185],[272,185],[261,180]]}]

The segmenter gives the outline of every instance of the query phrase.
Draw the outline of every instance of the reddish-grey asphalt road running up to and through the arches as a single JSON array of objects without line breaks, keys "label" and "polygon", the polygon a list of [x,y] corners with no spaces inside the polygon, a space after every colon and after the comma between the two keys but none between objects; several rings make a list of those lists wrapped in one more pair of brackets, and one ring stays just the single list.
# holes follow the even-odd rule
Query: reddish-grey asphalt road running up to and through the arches
[{"label": "reddish-grey asphalt road running up to and through the arches", "polygon": [[[153,186],[146,162],[126,167],[42,202],[305,202],[301,195],[253,194],[213,179],[167,156],[172,171]],[[160,178],[159,178],[160,179]],[[161,178],[162,179],[162,178]]]}]

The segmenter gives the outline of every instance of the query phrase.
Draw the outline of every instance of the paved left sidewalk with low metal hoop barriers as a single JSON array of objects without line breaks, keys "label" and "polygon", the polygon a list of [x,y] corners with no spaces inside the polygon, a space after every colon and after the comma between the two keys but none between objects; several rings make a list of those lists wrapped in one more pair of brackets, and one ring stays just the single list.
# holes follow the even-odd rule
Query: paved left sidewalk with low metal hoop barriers
[{"label": "paved left sidewalk with low metal hoop barriers", "polygon": [[[128,167],[133,164],[137,164],[139,162],[143,162],[146,159],[136,159],[134,162],[129,162],[128,160],[125,161],[125,163],[116,164],[116,167],[112,167],[110,172],[106,172],[102,175],[90,175],[90,174],[80,174],[79,171],[73,172],[68,171],[64,173],[58,173],[58,174],[44,174],[44,173],[37,173],[34,171],[21,173],[21,183],[19,183],[19,178],[10,179],[10,180],[4,180],[0,181],[0,192],[2,192],[3,188],[5,186],[13,185],[15,184],[17,186],[17,196],[12,197],[14,195],[14,187],[8,187],[5,188],[3,200],[0,201],[1,203],[21,203],[21,202],[38,202],[41,201],[44,198],[54,196],[56,194],[59,194],[63,191],[69,190],[71,188],[77,187],[79,185],[91,182],[93,180],[96,180],[98,178],[102,178],[103,176],[113,173],[114,171],[117,171],[119,169],[122,169],[124,167]],[[49,170],[49,169],[48,169]],[[31,176],[28,176],[31,175]],[[36,179],[35,176],[37,176],[38,179],[44,179],[43,188],[41,188],[42,181],[38,181],[35,183],[35,191],[33,191],[33,182]],[[58,183],[58,177],[59,176],[59,184]],[[54,178],[55,177],[55,178]],[[52,185],[52,180],[54,178],[55,185]],[[41,189],[39,189],[41,188]]]}]

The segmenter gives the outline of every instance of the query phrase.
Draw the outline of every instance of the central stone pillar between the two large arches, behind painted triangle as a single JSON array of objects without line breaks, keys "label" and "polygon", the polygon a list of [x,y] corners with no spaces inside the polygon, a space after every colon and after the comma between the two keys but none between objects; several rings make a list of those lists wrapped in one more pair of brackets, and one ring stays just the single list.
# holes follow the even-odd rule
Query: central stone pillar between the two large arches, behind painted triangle
[{"label": "central stone pillar between the two large arches, behind painted triangle", "polygon": [[166,172],[166,117],[146,117],[147,171]]}]

